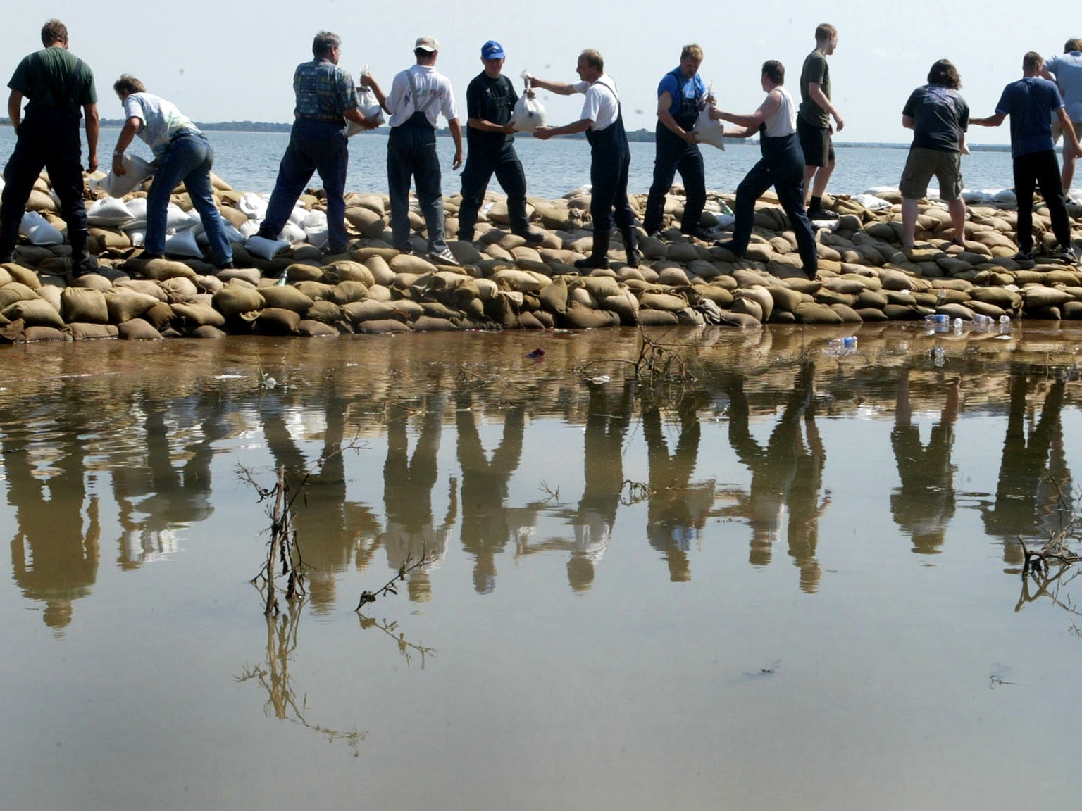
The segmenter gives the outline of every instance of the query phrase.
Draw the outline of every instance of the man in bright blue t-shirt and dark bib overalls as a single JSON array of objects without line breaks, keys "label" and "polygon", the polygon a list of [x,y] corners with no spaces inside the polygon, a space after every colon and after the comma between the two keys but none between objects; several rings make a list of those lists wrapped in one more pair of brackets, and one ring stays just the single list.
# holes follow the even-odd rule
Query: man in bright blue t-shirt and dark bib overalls
[{"label": "man in bright blue t-shirt and dark bib overalls", "polygon": [[702,240],[710,237],[703,231],[700,220],[707,204],[707,175],[702,152],[695,135],[699,112],[707,106],[707,88],[699,77],[702,49],[684,45],[679,65],[658,84],[658,127],[655,135],[654,184],[646,199],[643,227],[654,236],[661,230],[665,194],[679,172],[684,181],[684,216],[681,232]]}]

